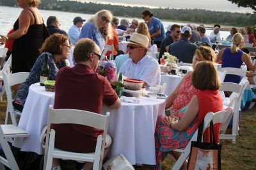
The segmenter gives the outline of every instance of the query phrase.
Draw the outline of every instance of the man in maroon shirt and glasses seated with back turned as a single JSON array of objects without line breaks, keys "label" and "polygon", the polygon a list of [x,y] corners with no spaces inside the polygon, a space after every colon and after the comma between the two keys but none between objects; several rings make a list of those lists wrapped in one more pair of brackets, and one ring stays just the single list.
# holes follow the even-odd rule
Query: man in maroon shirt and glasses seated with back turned
[{"label": "man in maroon shirt and glasses seated with back turned", "polygon": [[[77,42],[74,49],[77,64],[72,68],[62,68],[56,77],[54,109],[80,109],[100,114],[103,103],[111,109],[121,106],[120,98],[106,78],[95,73],[99,53],[100,49],[93,40],[83,38]],[[81,153],[94,152],[97,136],[102,134],[102,130],[83,125],[59,124],[51,127],[56,131],[56,148]],[[83,169],[92,169],[92,166],[93,163],[87,162]],[[58,159],[53,160],[52,167],[60,168]]]}]

